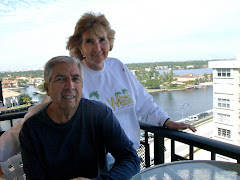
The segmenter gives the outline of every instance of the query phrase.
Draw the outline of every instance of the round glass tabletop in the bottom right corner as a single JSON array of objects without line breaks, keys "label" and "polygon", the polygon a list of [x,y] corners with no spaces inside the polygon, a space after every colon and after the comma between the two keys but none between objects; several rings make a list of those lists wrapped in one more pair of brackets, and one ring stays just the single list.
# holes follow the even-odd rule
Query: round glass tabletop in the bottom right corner
[{"label": "round glass tabletop in the bottom right corner", "polygon": [[222,161],[187,160],[156,165],[132,180],[240,180],[240,164]]}]

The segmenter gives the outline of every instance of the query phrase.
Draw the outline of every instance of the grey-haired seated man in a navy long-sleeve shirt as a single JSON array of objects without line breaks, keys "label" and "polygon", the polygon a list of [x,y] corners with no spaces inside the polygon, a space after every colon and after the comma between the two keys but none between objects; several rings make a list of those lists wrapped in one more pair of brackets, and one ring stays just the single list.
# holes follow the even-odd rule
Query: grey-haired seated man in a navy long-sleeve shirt
[{"label": "grey-haired seated man in a navy long-sleeve shirt", "polygon": [[[44,69],[52,102],[23,124],[19,138],[28,179],[129,179],[139,159],[118,120],[106,105],[81,98],[78,60],[52,58]],[[106,153],[116,159],[103,173]]]}]

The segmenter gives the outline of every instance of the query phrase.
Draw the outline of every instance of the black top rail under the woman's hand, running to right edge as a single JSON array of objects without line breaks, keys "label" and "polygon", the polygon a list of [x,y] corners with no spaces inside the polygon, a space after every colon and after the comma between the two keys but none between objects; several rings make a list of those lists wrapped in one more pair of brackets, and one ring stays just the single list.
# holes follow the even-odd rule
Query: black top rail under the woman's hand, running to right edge
[{"label": "black top rail under the woman's hand, running to right edge", "polygon": [[139,121],[139,124],[141,129],[152,132],[155,135],[170,138],[185,144],[192,145],[194,147],[199,147],[201,149],[215,152],[217,154],[228,156],[234,159],[240,159],[240,146],[202,137],[192,133],[164,129],[162,127],[155,127],[142,121]]}]

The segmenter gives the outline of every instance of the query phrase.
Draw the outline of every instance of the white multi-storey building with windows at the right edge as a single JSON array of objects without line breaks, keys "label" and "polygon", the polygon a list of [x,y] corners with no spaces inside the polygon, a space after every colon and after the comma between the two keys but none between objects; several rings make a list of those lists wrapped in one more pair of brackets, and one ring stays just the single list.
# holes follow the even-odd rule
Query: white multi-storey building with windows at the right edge
[{"label": "white multi-storey building with windows at the right edge", "polygon": [[213,68],[214,139],[240,145],[240,57],[208,65]]}]

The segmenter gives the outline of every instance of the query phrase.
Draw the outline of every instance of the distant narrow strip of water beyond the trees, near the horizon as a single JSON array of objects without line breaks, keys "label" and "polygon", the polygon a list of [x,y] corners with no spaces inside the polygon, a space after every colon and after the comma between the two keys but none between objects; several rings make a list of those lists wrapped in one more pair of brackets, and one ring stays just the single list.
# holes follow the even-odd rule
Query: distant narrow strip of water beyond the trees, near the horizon
[{"label": "distant narrow strip of water beyond the trees, near the horizon", "polygon": [[[168,73],[169,70],[158,70],[160,74],[163,74],[163,72]],[[211,68],[204,68],[204,69],[179,69],[179,70],[173,70],[173,73],[179,76],[193,73],[194,75],[200,76],[204,74],[212,74]]]}]

